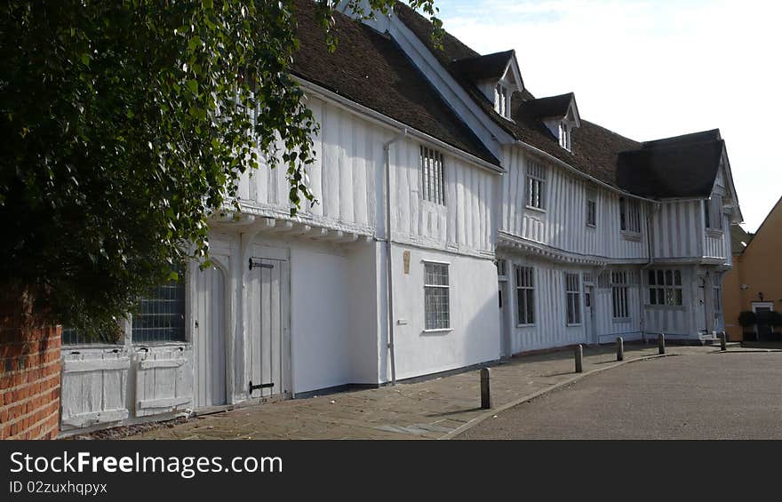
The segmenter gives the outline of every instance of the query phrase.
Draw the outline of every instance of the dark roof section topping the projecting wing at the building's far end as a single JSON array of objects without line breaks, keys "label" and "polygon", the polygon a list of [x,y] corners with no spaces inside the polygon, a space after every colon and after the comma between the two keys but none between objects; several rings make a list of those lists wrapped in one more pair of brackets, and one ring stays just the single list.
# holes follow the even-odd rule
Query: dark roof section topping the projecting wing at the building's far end
[{"label": "dark roof section topping the projecting wing at the building's far end", "polygon": [[[714,131],[648,141],[618,155],[619,187],[659,198],[708,197],[722,164],[724,141]],[[704,140],[706,139],[706,140]]]}]

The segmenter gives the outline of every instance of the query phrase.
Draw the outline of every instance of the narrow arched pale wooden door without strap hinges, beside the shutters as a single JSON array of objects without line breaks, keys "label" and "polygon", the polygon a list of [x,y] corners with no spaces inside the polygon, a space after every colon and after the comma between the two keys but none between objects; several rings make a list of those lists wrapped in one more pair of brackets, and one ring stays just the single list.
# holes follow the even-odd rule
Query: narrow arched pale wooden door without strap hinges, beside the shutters
[{"label": "narrow arched pale wooden door without strap hinges, beside the shutters", "polygon": [[195,408],[225,404],[226,277],[219,268],[195,272],[193,313]]}]

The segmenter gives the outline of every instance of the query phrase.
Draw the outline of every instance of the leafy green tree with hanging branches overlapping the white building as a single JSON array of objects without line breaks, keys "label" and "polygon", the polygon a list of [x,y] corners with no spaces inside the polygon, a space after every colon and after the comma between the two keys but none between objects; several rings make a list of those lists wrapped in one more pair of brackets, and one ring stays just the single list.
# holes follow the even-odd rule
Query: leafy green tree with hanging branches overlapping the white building
[{"label": "leafy green tree with hanging branches overlapping the white building", "polygon": [[[4,294],[94,334],[173,265],[208,258],[210,215],[259,157],[285,170],[291,212],[312,200],[318,124],[288,71],[300,1],[4,3]],[[347,5],[369,17],[394,3]],[[315,4],[333,49],[335,2]],[[433,0],[408,4],[439,34]]]}]

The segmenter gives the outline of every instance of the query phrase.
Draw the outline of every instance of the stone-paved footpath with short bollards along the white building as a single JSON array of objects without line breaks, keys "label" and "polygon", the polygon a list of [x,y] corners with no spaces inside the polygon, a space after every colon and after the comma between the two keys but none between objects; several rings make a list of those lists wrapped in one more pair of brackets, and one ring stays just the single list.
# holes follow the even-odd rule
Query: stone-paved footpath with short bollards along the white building
[{"label": "stone-paved footpath with short bollards along the white building", "polygon": [[[666,348],[667,355],[688,356],[682,361],[690,355],[725,356],[716,355],[719,347]],[[571,349],[514,357],[491,366],[491,410],[480,407],[480,377],[475,370],[417,383],[235,408],[154,426],[129,439],[451,439],[552,389],[657,355],[656,344],[626,344],[625,362],[617,363],[614,347],[585,347],[580,374],[574,372]],[[658,367],[652,361],[645,364]]]}]

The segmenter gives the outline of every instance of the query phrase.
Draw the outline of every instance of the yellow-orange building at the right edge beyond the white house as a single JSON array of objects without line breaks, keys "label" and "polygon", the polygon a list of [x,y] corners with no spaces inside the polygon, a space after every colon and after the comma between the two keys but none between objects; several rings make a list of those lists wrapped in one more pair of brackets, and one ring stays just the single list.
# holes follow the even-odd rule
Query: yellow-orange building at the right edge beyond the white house
[{"label": "yellow-orange building at the right edge beyond the white house", "polygon": [[733,267],[722,278],[722,308],[725,331],[730,340],[744,339],[752,331],[768,337],[771,326],[758,323],[742,328],[742,311],[782,311],[782,198],[774,205],[754,235],[738,225],[731,227]]}]

